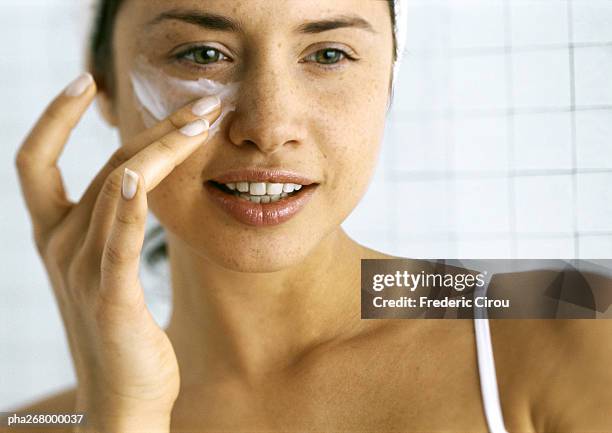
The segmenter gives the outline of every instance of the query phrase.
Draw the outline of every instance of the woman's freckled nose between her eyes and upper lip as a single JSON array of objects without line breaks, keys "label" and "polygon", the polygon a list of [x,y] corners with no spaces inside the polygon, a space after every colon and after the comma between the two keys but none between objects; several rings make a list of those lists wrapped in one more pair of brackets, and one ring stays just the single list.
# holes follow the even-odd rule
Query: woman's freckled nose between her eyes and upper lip
[{"label": "woman's freckled nose between her eyes and upper lip", "polygon": [[246,74],[229,126],[230,141],[265,154],[305,139],[299,89],[288,72],[260,68]]}]

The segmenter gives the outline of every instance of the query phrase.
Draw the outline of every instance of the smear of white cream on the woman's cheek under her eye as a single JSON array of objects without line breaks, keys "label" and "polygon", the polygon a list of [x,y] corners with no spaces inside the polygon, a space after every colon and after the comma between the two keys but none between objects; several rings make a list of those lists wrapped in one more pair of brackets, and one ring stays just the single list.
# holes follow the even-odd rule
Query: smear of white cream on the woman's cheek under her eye
[{"label": "smear of white cream on the woman's cheek under her eye", "polygon": [[210,125],[209,137],[213,137],[227,113],[236,109],[238,82],[223,84],[206,78],[181,80],[164,74],[142,55],[136,59],[130,78],[147,128],[189,102],[203,96],[217,95],[221,99],[221,114]]}]

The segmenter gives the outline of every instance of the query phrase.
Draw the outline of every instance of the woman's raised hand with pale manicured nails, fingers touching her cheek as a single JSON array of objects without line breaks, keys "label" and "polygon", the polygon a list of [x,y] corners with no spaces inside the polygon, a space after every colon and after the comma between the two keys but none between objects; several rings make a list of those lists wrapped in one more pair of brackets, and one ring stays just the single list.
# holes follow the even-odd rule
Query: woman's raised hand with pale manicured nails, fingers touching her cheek
[{"label": "woman's raised hand with pale manicured nails, fingers touching her cheek", "polygon": [[75,80],[47,107],[15,162],[74,360],[77,411],[96,432],[167,432],[180,380],[138,276],[146,193],[206,141],[219,102],[196,101],[137,135],[72,203],[57,161],[95,95],[89,74]]}]

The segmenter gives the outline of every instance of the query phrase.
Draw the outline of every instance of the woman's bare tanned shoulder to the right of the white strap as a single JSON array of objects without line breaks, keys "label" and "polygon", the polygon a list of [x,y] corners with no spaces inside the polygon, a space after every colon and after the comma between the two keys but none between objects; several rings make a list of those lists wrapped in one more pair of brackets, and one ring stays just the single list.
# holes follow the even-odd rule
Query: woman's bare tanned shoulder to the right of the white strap
[{"label": "woman's bare tanned shoulder to the right of the white strap", "polygon": [[[490,319],[503,407],[528,405],[536,431],[612,431],[606,409],[612,407],[612,280],[533,270],[495,275],[489,289],[495,297],[513,298],[523,312],[531,309],[527,317],[549,311],[591,317]],[[548,310],[540,310],[547,297]]]}]

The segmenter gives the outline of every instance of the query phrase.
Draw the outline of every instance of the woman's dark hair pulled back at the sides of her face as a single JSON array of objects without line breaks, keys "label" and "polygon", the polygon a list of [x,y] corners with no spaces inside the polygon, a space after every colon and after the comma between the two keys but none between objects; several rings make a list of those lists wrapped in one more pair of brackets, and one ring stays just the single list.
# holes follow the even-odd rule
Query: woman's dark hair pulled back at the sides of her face
[{"label": "woman's dark hair pulled back at the sides of her face", "polygon": [[[395,1],[386,0],[391,15],[391,28],[395,29]],[[90,42],[91,73],[99,89],[113,96],[115,92],[113,61],[113,30],[119,8],[124,0],[100,0],[96,12]],[[393,61],[397,60],[397,40],[393,32]],[[155,268],[160,260],[167,257],[164,229],[156,224],[147,231],[144,240],[145,264]]]}]

